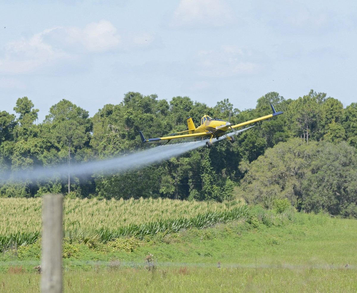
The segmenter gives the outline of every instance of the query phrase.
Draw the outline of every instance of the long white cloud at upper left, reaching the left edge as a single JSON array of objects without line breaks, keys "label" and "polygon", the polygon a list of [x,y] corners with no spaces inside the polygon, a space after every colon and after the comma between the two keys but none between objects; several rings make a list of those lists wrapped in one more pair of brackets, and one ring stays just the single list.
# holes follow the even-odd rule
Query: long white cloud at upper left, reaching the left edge
[{"label": "long white cloud at upper left, reaching the left edge", "polygon": [[64,64],[73,66],[86,54],[148,46],[153,40],[153,34],[148,32],[120,34],[106,20],[90,23],[84,29],[54,27],[3,46],[0,74],[28,74]]}]

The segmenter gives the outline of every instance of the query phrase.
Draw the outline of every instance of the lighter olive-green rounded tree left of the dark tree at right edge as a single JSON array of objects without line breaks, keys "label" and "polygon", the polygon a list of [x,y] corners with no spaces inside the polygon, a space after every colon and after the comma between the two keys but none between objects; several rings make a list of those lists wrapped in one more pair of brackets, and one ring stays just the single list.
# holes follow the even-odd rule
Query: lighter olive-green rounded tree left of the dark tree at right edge
[{"label": "lighter olive-green rounded tree left of the dark tree at right edge", "polygon": [[271,206],[275,199],[287,198],[296,208],[302,207],[302,180],[316,154],[316,142],[304,144],[300,138],[278,143],[265,154],[239,168],[246,173],[239,195],[248,203]]}]

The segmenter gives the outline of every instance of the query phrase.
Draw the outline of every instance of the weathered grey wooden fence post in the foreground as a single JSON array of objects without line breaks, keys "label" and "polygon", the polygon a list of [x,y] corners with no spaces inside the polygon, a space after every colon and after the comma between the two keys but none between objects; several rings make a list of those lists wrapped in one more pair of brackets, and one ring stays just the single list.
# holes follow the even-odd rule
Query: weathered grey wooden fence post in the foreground
[{"label": "weathered grey wooden fence post in the foreground", "polygon": [[62,292],[62,209],[61,194],[43,197],[41,292]]}]

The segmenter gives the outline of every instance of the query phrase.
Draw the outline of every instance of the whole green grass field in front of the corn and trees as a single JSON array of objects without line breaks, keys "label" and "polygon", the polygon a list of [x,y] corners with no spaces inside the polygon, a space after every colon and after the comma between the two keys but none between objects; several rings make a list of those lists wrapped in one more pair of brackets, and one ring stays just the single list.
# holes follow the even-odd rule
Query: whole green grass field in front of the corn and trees
[{"label": "whole green grass field in front of the corn and trees", "polygon": [[[357,291],[355,219],[258,207],[250,214],[205,229],[122,238],[114,246],[65,244],[64,292]],[[0,292],[39,292],[32,269],[39,263],[37,242],[2,252]]]}]

